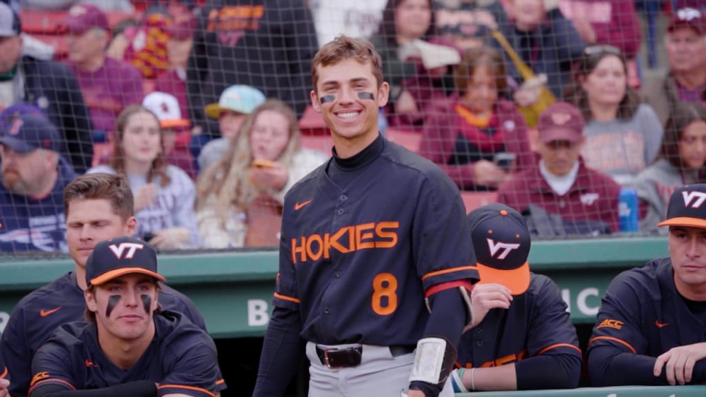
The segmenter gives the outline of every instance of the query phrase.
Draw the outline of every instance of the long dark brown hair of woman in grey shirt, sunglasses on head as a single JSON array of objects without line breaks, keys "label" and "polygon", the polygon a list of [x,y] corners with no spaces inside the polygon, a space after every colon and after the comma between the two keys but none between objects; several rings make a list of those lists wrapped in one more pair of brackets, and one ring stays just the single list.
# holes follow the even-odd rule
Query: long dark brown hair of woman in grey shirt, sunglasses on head
[{"label": "long dark brown hair of woman in grey shirt, sunglasses on head", "polygon": [[[586,122],[593,119],[593,114],[591,114],[591,107],[588,104],[588,95],[586,91],[581,86],[586,80],[587,76],[596,69],[596,66],[601,63],[606,57],[618,57],[623,63],[623,72],[626,75],[626,88],[623,100],[618,104],[618,119],[629,120],[635,115],[640,106],[640,96],[633,88],[627,83],[628,76],[628,61],[625,56],[619,50],[600,50],[600,51],[588,51],[592,48],[600,48],[601,46],[587,47],[587,53],[584,54],[582,60],[579,62],[574,74],[572,81],[566,86],[564,90],[564,100],[578,107],[583,113],[583,117]],[[602,46],[611,47],[611,46]]]}]

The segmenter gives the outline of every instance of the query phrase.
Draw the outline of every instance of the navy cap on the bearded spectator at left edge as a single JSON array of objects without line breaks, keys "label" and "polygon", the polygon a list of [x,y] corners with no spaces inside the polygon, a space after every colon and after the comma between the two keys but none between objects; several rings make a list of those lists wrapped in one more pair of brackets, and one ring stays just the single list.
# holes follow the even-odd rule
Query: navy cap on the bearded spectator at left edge
[{"label": "navy cap on the bearded spectator at left edge", "polygon": [[0,145],[8,146],[18,153],[30,153],[36,149],[60,153],[59,130],[44,115],[25,113],[5,117],[3,112],[0,119]]}]

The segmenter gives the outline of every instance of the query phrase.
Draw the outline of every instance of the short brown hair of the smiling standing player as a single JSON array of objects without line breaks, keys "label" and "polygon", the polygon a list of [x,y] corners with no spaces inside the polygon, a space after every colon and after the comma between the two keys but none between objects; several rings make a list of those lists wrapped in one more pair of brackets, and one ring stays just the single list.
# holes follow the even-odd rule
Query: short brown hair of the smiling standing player
[{"label": "short brown hair of the smiling standing player", "polygon": [[318,83],[317,68],[319,65],[325,68],[351,58],[361,64],[371,65],[373,76],[378,81],[378,88],[380,88],[383,84],[383,61],[375,47],[368,40],[340,35],[323,45],[311,61],[313,91],[316,93],[316,83]]}]

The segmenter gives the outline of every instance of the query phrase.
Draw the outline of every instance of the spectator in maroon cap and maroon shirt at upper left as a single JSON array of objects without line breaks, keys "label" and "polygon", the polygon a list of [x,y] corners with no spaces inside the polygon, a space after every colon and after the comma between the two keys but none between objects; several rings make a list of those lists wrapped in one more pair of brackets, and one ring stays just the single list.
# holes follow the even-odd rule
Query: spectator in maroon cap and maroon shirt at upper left
[{"label": "spectator in maroon cap and maroon shirt at upper left", "polygon": [[66,17],[68,67],[76,75],[90,112],[96,141],[113,131],[115,118],[143,97],[142,77],[133,66],[106,56],[108,18],[91,4],[71,7]]}]

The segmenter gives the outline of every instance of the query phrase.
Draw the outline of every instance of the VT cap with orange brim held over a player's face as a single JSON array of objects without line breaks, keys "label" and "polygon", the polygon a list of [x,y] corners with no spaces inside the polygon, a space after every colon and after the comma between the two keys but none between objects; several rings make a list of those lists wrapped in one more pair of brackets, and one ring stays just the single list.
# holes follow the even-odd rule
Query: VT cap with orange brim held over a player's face
[{"label": "VT cap with orange brim held over a player's face", "polygon": [[505,204],[482,206],[468,214],[480,284],[497,283],[520,295],[530,287],[530,230],[520,213]]}]

